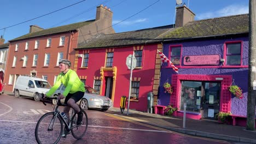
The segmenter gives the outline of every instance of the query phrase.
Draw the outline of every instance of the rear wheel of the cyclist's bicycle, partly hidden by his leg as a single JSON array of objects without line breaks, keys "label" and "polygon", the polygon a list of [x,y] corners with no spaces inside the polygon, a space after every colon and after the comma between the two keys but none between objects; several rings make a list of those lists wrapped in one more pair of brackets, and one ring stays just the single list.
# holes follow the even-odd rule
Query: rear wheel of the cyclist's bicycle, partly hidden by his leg
[{"label": "rear wheel of the cyclist's bicycle, partly hidden by his leg", "polygon": [[[80,108],[80,110],[82,110]],[[88,128],[88,117],[84,110],[83,111],[83,123],[82,125],[77,126],[77,113],[74,113],[72,119],[71,119],[71,133],[74,136],[75,139],[81,139]]]}]

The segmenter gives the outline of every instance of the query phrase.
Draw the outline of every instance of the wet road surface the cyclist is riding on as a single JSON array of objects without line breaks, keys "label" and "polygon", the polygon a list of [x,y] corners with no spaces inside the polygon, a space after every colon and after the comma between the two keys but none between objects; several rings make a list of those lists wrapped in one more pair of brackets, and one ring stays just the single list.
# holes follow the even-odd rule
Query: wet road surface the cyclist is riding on
[{"label": "wet road surface the cyclist is riding on", "polygon": [[[48,111],[53,111],[50,103],[44,106],[30,98],[0,95],[0,143],[37,143],[34,137],[36,123]],[[89,127],[83,139],[76,140],[69,134],[59,143],[228,143],[125,121],[110,112],[86,112]]]}]

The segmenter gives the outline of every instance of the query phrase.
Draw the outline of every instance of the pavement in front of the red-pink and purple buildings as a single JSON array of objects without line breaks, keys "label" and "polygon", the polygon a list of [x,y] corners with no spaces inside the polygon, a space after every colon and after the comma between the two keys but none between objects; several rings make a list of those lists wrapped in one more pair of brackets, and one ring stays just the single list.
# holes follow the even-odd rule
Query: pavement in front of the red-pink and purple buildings
[{"label": "pavement in front of the red-pink and purple buildings", "polygon": [[130,121],[152,125],[177,133],[241,143],[256,143],[255,130],[250,131],[246,130],[246,127],[223,124],[218,121],[186,118],[185,127],[183,128],[183,117],[162,116],[135,110],[129,110],[129,115],[127,115],[127,109],[122,114],[120,108],[116,107],[110,108],[107,112]]}]

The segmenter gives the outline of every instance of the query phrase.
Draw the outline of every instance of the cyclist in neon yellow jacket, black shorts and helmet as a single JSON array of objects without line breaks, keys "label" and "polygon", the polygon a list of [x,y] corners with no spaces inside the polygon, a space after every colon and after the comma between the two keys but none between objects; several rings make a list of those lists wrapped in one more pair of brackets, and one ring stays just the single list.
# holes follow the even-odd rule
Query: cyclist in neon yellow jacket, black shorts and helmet
[{"label": "cyclist in neon yellow jacket, black shorts and helmet", "polygon": [[[79,106],[76,104],[77,101],[84,97],[85,86],[82,81],[80,81],[77,73],[74,70],[69,69],[71,67],[71,62],[68,59],[61,59],[59,62],[59,68],[61,73],[57,76],[56,82],[54,86],[51,87],[50,91],[45,95],[46,97],[50,97],[50,95],[54,94],[57,88],[60,87],[61,83],[66,87],[65,91],[58,96],[58,99],[65,99],[65,106],[63,112],[65,112],[66,116],[69,119],[69,110],[72,107],[75,112],[78,113],[77,125],[81,124],[83,121],[83,112],[80,110]],[[46,98],[45,97],[45,98]],[[44,99],[45,99],[44,98]],[[69,122],[68,122],[69,123]],[[62,134],[62,137],[65,137],[69,131],[65,130],[65,133]]]}]

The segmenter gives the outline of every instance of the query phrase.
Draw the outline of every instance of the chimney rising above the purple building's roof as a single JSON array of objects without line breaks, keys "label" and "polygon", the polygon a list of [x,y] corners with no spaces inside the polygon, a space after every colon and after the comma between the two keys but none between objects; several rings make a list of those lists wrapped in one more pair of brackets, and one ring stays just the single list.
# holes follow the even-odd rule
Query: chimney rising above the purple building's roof
[{"label": "chimney rising above the purple building's roof", "polygon": [[195,14],[186,5],[176,7],[175,27],[182,27],[186,23],[194,21]]}]

